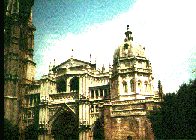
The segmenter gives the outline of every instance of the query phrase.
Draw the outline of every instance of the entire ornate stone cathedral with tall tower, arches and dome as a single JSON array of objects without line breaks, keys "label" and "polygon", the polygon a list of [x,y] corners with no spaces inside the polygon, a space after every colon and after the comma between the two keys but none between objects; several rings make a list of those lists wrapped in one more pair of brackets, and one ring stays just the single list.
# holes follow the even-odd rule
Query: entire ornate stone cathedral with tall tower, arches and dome
[{"label": "entire ornate stone cathedral with tall tower, arches and dome", "polygon": [[[154,91],[145,47],[125,39],[109,72],[96,63],[55,60],[47,75],[34,80],[33,0],[8,0],[4,11],[4,117],[38,129],[38,139],[154,139],[149,110],[161,97]],[[64,130],[64,131],[62,131]],[[98,131],[102,130],[102,133]]]}]

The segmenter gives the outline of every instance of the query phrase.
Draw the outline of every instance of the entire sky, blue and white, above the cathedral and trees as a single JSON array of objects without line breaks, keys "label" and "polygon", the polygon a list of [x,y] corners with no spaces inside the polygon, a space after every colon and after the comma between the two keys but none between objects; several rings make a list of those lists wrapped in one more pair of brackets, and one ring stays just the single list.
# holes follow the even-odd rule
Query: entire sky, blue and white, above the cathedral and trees
[{"label": "entire sky, blue and white, above the cathedral and trees", "polygon": [[154,89],[163,92],[196,78],[195,0],[35,0],[36,79],[71,57],[97,67],[113,63],[127,25],[133,41],[145,46],[152,63]]}]

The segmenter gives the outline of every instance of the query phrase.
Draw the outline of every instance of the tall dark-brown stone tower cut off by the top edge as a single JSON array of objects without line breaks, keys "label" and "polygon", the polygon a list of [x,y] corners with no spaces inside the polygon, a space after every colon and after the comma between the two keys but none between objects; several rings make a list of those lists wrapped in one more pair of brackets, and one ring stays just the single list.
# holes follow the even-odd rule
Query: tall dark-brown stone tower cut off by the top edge
[{"label": "tall dark-brown stone tower cut off by the top edge", "polygon": [[24,94],[34,81],[34,0],[4,1],[4,117],[22,126]]}]

